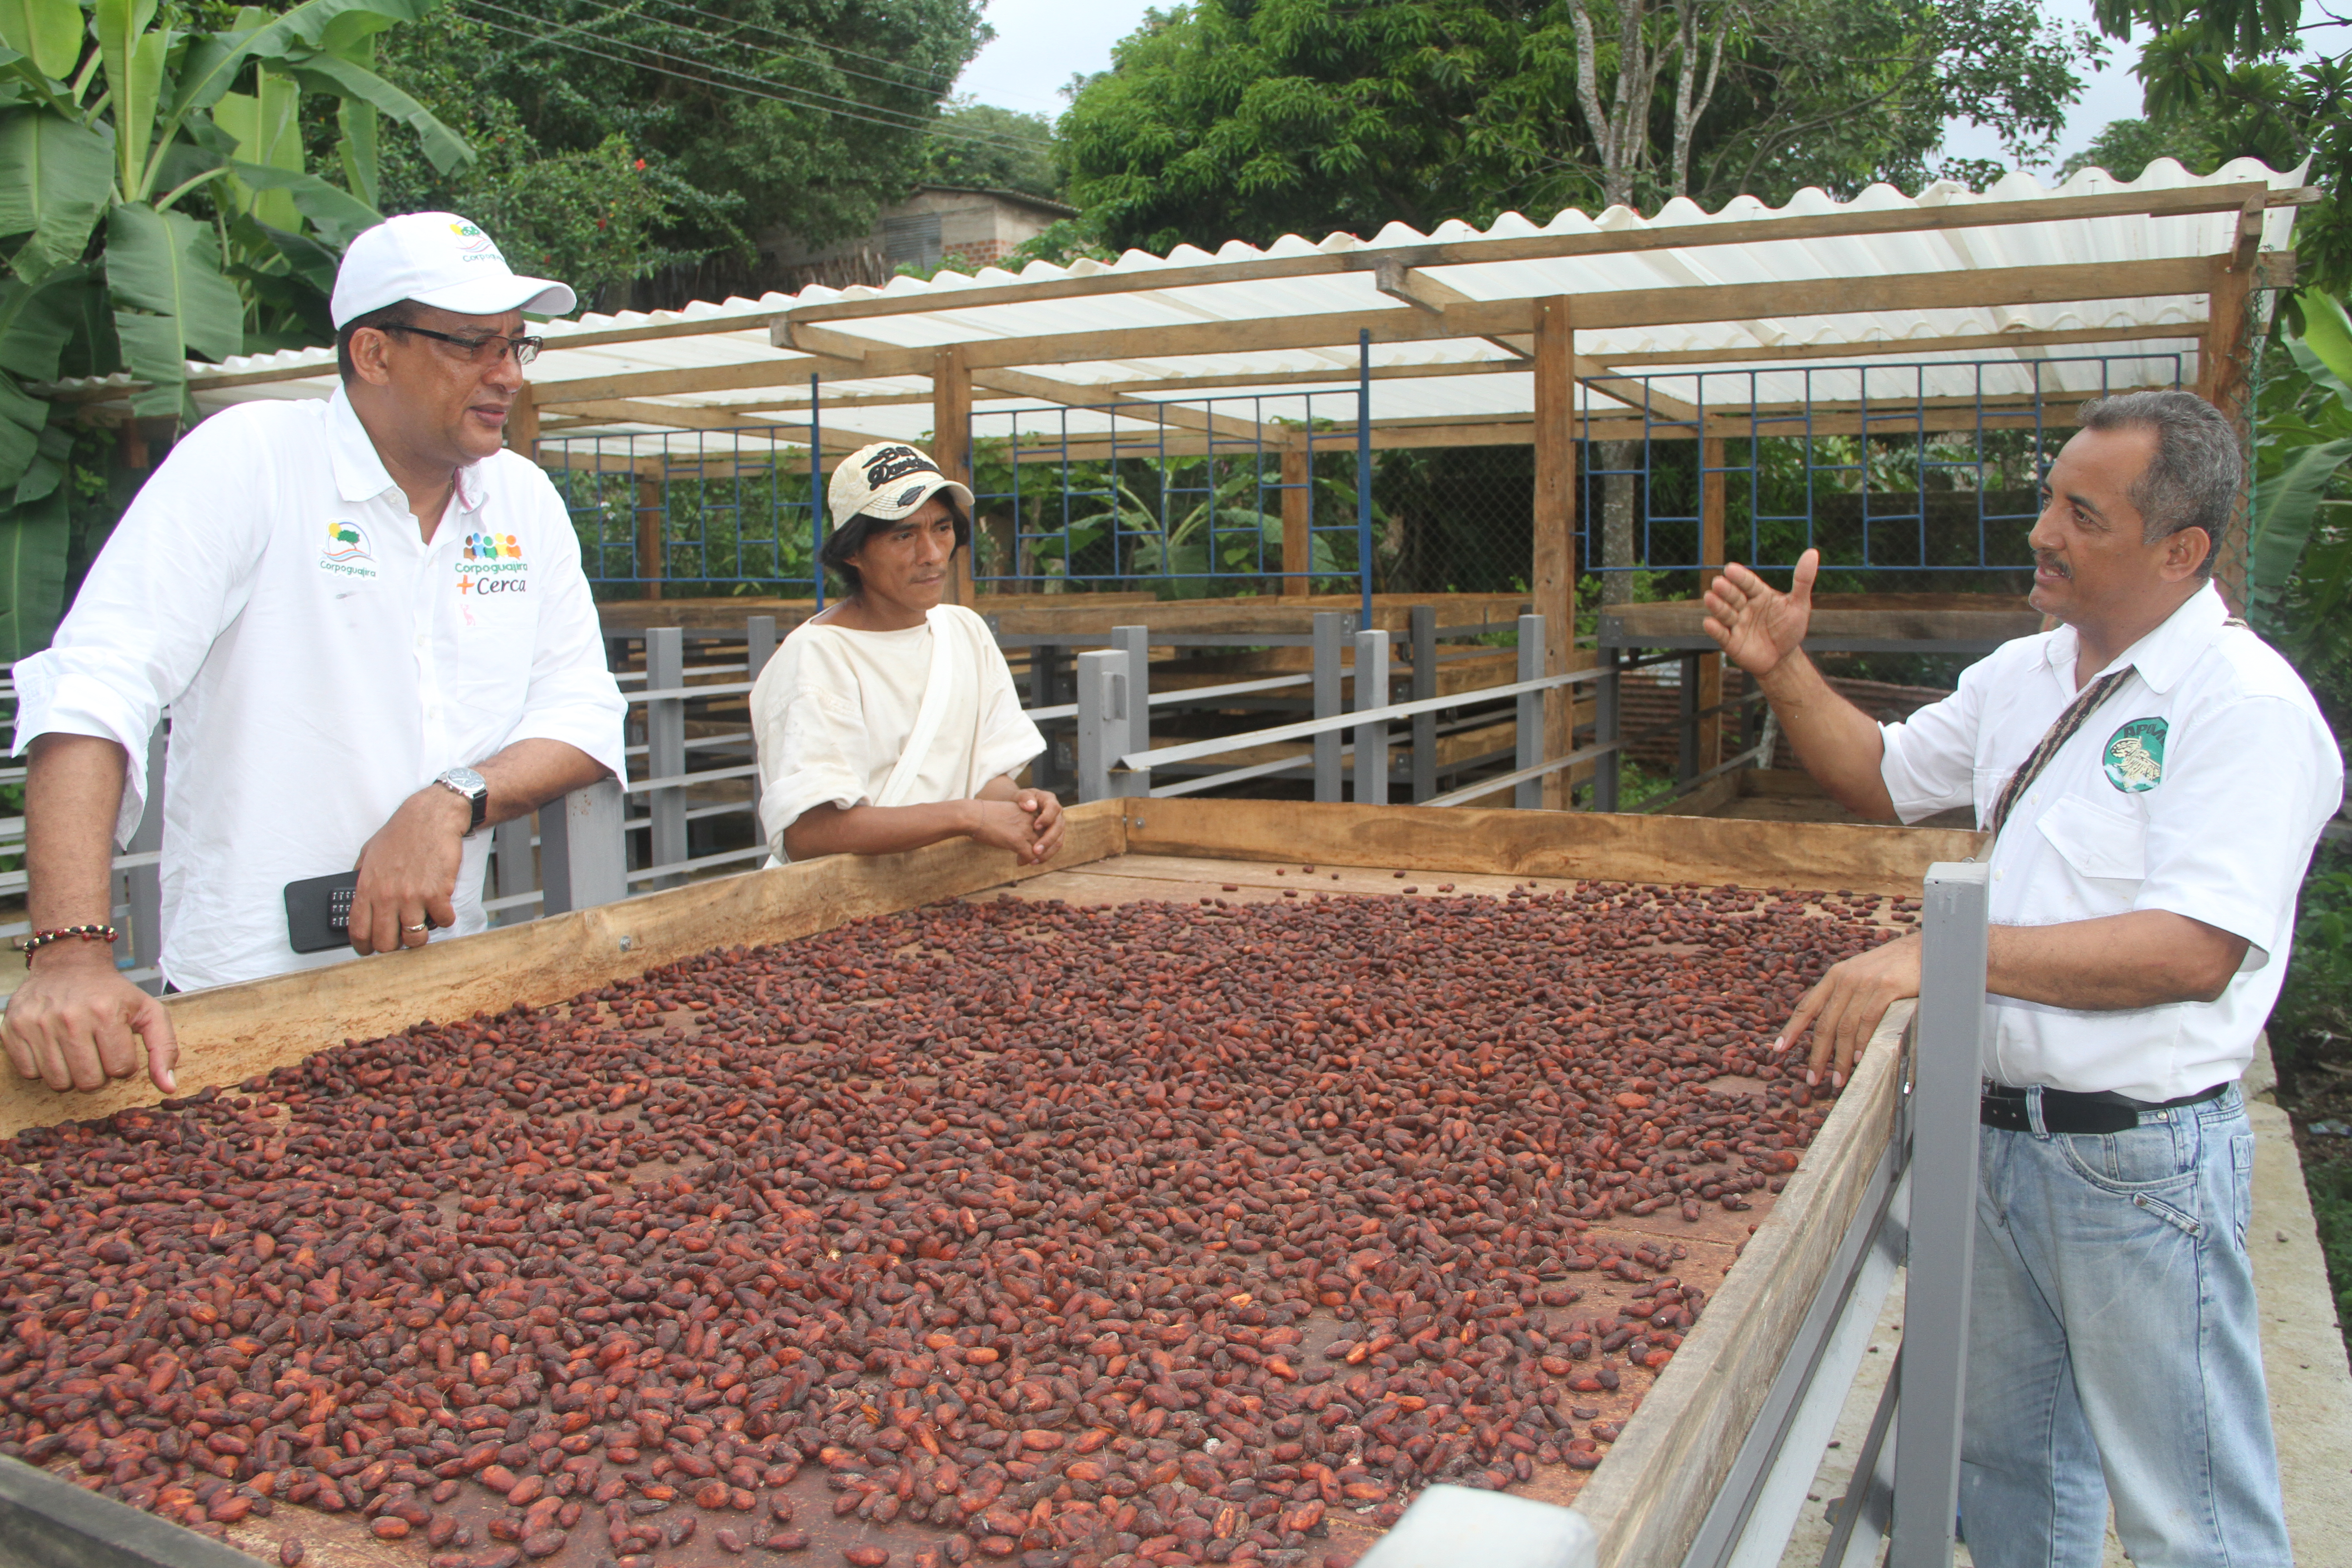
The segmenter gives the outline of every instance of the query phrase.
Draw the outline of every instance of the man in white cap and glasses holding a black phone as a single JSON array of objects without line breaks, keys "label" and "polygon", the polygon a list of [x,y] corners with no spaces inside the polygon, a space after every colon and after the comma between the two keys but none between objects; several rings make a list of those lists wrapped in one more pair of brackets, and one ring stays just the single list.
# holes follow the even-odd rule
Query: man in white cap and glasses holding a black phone
[{"label": "man in white cap and glasses holding a black phone", "polygon": [[[165,708],[176,990],[480,931],[480,830],[621,771],[579,536],[503,449],[539,350],[522,313],[567,313],[572,289],[416,212],[353,240],[332,306],[334,395],[191,430],[16,665],[33,936],[5,1037],[54,1088],[141,1058],[174,1088],[169,1016],[108,947],[108,860]],[[353,870],[350,950],[296,952],[287,884]]]}]

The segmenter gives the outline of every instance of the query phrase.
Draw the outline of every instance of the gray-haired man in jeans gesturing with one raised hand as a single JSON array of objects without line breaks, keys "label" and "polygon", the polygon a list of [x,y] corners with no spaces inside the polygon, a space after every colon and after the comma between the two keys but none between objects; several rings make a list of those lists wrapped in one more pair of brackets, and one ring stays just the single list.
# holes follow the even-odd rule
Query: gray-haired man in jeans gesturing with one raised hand
[{"label": "gray-haired man in jeans gesturing with one raised hand", "polygon": [[[2044,482],[2032,602],[2063,625],[1877,724],[1804,656],[1792,592],[1745,567],[1708,632],[1846,809],[1976,806],[1992,835],[1962,1533],[1983,1568],[2291,1561],[2246,1225],[2237,1079],[2286,973],[2296,891],[2343,759],[2312,693],[2232,621],[2213,557],[2237,435],[2190,393],[2082,409]],[[1830,969],[1809,1084],[1844,1084],[1919,938]]]}]

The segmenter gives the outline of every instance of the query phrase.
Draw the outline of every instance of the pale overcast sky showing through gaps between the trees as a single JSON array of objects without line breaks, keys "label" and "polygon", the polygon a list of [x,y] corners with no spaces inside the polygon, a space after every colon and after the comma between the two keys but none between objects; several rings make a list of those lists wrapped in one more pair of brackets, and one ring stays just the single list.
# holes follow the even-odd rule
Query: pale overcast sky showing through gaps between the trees
[{"label": "pale overcast sky showing through gaps between the trees", "polygon": [[[2044,0],[2042,9],[2070,26],[2091,21],[2089,0]],[[971,61],[957,92],[969,92],[981,103],[1058,115],[1068,103],[1061,89],[1070,78],[1108,71],[1110,45],[1134,33],[1143,12],[1143,0],[990,0],[988,21],[997,40]],[[2136,59],[2133,45],[2110,49],[2105,66],[2091,75],[2082,101],[2074,103],[2051,165],[2037,174],[2049,179],[2067,153],[2089,146],[2110,120],[2131,120],[2140,113],[2140,80],[2131,75]],[[1999,139],[1971,125],[1952,125],[1945,150],[1962,158],[2002,158]]]}]

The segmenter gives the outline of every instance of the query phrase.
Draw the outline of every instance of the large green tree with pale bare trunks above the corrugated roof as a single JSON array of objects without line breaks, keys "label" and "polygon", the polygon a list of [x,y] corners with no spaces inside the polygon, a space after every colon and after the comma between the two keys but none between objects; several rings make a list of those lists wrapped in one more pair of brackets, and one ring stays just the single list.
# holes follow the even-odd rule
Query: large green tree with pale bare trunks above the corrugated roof
[{"label": "large green tree with pale bare trunks above the corrugated roof", "polygon": [[1369,235],[1919,186],[1955,118],[2030,158],[2089,47],[2030,0],[1197,0],[1152,12],[1061,129],[1115,244]]}]

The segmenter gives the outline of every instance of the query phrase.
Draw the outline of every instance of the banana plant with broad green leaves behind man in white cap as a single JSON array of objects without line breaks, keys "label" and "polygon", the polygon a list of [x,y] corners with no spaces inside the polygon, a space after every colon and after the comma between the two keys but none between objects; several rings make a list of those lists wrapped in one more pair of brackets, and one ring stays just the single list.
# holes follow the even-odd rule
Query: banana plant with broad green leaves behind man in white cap
[{"label": "banana plant with broad green leaves behind man in white cap", "polygon": [[[322,343],[343,244],[379,219],[379,120],[442,172],[473,150],[374,73],[440,0],[303,0],[186,28],[158,0],[0,0],[0,661],[42,646],[71,543],[59,376],[129,371],[193,418],[188,360]],[[301,99],[336,99],[334,186]]]}]

